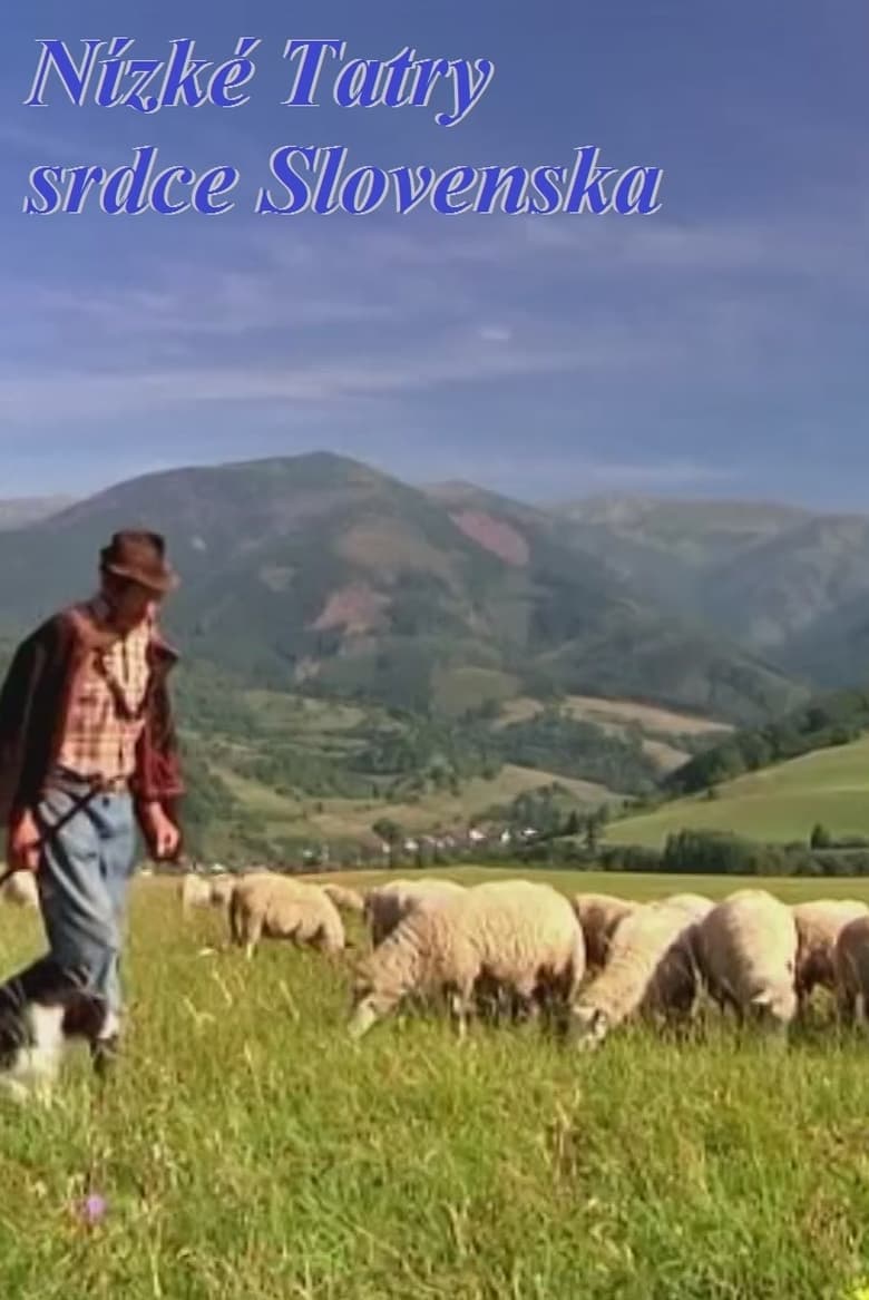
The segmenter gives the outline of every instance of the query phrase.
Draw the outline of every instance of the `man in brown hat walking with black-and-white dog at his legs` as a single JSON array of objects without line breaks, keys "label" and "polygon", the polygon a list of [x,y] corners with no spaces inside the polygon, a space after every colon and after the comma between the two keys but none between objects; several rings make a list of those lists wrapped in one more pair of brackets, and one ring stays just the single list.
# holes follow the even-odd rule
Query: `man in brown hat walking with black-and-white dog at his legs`
[{"label": "man in brown hat walking with black-and-white dog at his legs", "polygon": [[116,533],[98,594],[36,628],[0,690],[7,863],[36,874],[49,948],[0,985],[0,1071],[26,1056],[52,1075],[73,1031],[100,1072],[117,1052],[135,827],[156,861],[174,858],[181,838],[167,680],[177,655],[156,624],[177,582],[163,537]]}]

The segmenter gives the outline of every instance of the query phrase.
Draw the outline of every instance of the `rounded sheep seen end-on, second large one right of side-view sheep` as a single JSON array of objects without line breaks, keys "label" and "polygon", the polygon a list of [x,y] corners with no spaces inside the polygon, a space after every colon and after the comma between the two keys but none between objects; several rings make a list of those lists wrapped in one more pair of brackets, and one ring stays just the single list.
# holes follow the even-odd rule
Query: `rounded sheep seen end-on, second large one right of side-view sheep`
[{"label": "rounded sheep seen end-on, second large one right of side-view sheep", "polygon": [[787,904],[765,889],[740,889],[701,920],[695,954],[722,1010],[786,1032],[796,1014],[796,946]]}]

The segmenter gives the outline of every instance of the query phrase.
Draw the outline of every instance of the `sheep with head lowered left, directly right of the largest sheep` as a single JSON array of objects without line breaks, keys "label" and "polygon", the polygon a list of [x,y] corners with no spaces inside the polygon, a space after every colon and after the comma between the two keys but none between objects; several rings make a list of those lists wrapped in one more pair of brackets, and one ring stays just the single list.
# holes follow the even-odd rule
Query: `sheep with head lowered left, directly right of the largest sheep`
[{"label": "sheep with head lowered left, directly right of the largest sheep", "polygon": [[691,1015],[699,992],[691,942],[696,926],[695,911],[679,900],[648,902],[622,918],[604,968],[572,1008],[571,1031],[580,1048],[600,1046],[635,1015]]}]

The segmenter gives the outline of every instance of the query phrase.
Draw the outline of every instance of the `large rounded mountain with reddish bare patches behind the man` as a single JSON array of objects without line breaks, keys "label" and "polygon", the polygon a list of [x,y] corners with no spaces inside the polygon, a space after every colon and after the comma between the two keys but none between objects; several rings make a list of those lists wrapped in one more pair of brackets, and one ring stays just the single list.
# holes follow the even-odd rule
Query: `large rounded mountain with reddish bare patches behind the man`
[{"label": "large rounded mountain with reddish bare patches behind the man", "polygon": [[169,540],[181,647],[248,684],[425,711],[475,668],[501,697],[632,696],[736,723],[804,697],[546,511],[328,452],[150,474],[0,534],[0,636],[86,594],[131,525]]}]

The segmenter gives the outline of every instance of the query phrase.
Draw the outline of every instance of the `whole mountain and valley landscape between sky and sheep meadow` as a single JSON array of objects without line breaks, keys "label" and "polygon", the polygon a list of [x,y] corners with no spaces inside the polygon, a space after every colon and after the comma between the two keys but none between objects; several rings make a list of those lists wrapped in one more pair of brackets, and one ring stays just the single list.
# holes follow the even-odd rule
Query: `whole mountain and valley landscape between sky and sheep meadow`
[{"label": "whole mountain and valley landscape between sky and sheep meadow", "polygon": [[541,508],[328,452],[169,471],[0,530],[0,668],[137,524],[165,532],[182,575],[165,625],[202,842],[437,831],[540,790],[579,809],[676,797],[611,827],[641,844],[869,827],[848,768],[869,693],[812,686],[864,677],[866,519]]}]

